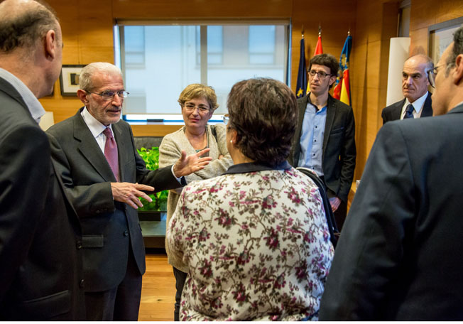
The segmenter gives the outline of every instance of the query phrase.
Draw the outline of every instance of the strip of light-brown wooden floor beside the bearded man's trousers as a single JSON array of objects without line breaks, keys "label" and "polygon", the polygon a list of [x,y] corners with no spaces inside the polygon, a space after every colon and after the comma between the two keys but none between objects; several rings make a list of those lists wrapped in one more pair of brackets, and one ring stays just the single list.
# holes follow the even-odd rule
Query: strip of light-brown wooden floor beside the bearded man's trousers
[{"label": "strip of light-brown wooden floor beside the bearded man's trousers", "polygon": [[146,251],[138,320],[173,320],[175,278],[163,249]]}]

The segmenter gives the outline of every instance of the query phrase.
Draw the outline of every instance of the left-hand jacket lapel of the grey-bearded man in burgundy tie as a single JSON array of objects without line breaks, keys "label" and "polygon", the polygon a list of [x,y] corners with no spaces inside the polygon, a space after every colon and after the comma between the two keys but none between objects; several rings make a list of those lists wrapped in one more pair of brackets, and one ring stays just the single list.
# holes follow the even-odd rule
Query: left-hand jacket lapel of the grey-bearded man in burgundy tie
[{"label": "left-hand jacket lapel of the grey-bearded man in burgundy tie", "polygon": [[82,112],[82,109],[79,109],[73,120],[74,138],[80,142],[78,144],[79,151],[105,181],[116,182],[108,161],[94,139],[92,132],[85,124],[80,112]]}]

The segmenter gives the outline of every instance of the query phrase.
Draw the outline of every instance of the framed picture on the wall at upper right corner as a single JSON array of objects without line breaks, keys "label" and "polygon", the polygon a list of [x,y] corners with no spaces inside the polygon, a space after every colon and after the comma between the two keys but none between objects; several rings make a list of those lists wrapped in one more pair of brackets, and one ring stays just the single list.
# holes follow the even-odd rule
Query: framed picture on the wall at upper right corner
[{"label": "framed picture on the wall at upper right corner", "polygon": [[463,24],[463,17],[454,18],[443,23],[436,23],[427,28],[428,53],[436,64],[445,48],[453,41],[453,33]]}]

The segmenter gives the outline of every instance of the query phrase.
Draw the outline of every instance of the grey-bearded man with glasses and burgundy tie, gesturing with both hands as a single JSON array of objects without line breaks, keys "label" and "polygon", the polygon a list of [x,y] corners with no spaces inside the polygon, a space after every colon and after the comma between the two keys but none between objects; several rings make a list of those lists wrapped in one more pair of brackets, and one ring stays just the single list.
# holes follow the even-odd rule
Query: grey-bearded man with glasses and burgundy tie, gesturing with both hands
[{"label": "grey-bearded man with glasses and burgundy tie, gesturing with both hands", "polygon": [[145,251],[136,208],[138,197],[151,201],[141,190],[178,188],[180,177],[211,159],[200,158],[209,149],[192,156],[183,152],[175,165],[148,171],[130,125],[120,120],[126,95],[119,68],[91,63],[82,70],[77,91],[85,107],[47,131],[56,168],[82,222],[88,320],[138,319]]}]

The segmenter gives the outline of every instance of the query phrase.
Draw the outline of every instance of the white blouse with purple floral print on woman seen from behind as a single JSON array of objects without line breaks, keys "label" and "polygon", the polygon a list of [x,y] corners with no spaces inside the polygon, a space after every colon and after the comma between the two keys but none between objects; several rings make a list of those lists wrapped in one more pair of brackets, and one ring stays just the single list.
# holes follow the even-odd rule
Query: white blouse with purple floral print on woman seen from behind
[{"label": "white blouse with purple floral print on woman seen from behind", "polygon": [[181,320],[317,320],[334,249],[317,186],[283,163],[187,185],[168,225]]}]

